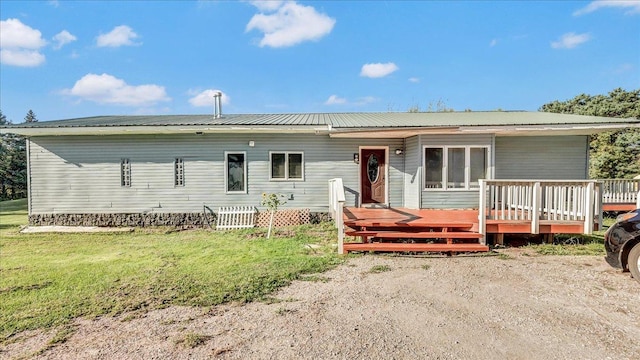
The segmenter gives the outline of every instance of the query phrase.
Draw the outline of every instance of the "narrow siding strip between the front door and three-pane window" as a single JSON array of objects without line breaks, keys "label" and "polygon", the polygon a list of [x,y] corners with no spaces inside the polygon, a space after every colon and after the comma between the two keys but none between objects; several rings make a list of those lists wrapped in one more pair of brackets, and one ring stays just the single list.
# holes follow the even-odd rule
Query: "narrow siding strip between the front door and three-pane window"
[{"label": "narrow siding strip between the front door and three-pane window", "polygon": [[422,191],[422,148],[418,136],[405,140],[405,175],[404,175],[404,206],[410,209],[420,208],[420,193]]}]

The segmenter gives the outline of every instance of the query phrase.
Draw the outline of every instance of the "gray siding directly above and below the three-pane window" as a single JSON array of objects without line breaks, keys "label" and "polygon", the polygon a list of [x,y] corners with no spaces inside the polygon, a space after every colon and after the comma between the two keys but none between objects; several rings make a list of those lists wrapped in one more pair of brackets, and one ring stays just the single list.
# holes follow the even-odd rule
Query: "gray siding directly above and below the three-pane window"
[{"label": "gray siding directly above and below the three-pane window", "polygon": [[[467,146],[478,145],[489,147],[489,174],[494,171],[492,161],[492,144],[493,135],[477,134],[477,135],[421,135],[420,136],[420,166],[422,167],[422,159],[424,157],[423,149],[425,146]],[[422,181],[422,180],[421,180]],[[420,185],[422,189],[422,201],[420,207],[423,209],[473,209],[478,208],[478,191],[477,190],[424,190],[424,184]]]}]

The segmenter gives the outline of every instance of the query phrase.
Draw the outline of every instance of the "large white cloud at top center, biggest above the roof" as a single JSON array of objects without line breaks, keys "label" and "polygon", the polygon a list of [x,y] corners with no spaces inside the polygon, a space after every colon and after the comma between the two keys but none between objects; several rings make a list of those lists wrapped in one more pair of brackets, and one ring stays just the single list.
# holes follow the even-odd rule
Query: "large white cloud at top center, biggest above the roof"
[{"label": "large white cloud at top center, biggest above the roof", "polygon": [[256,14],[245,31],[258,30],[264,33],[260,47],[274,48],[293,46],[305,41],[317,41],[333,30],[336,20],[316,11],[312,6],[295,1],[253,2],[262,12]]}]

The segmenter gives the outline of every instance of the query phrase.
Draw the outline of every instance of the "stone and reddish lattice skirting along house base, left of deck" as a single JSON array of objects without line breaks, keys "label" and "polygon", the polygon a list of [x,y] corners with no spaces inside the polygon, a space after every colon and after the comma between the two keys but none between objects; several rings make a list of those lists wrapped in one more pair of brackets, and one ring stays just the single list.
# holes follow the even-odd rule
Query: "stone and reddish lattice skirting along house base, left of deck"
[{"label": "stone and reddish lattice skirting along house base, left of deck", "polygon": [[[269,212],[256,213],[256,226],[269,226]],[[312,213],[309,209],[278,210],[274,226],[317,224],[327,221],[327,213]],[[210,213],[147,213],[147,214],[37,214],[29,215],[31,226],[102,226],[102,227],[211,227],[216,226],[215,214]]]}]

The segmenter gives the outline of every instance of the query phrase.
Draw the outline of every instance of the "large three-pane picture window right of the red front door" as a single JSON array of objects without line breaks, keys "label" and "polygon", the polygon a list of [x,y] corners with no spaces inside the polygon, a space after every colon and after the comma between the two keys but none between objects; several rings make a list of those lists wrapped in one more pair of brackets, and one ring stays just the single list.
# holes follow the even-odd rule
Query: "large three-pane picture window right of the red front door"
[{"label": "large three-pane picture window right of the red front door", "polygon": [[425,189],[477,189],[486,179],[489,148],[432,146],[424,148]]}]

